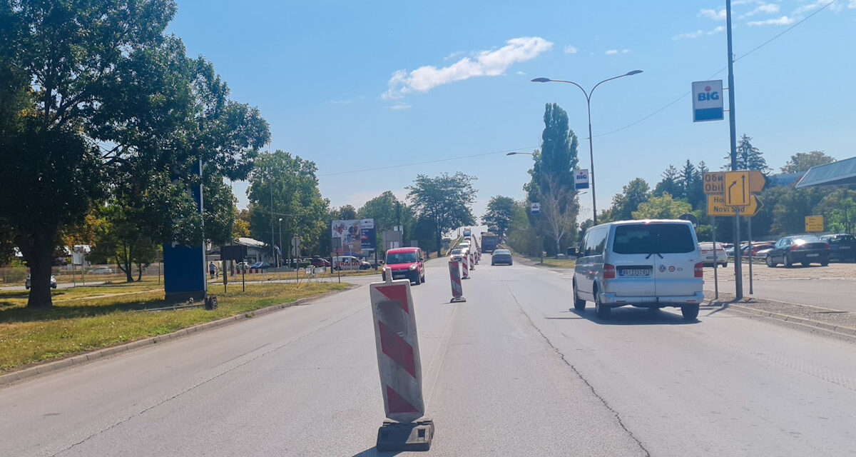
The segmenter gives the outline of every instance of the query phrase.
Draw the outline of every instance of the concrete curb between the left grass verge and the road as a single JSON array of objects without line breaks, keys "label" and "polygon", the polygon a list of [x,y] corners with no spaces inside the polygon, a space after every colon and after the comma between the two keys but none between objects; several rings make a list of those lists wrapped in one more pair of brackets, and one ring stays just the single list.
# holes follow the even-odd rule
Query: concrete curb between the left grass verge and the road
[{"label": "concrete curb between the left grass verge and the road", "polygon": [[315,297],[307,297],[307,298],[298,298],[291,303],[284,304],[275,304],[272,306],[268,306],[266,308],[259,308],[259,310],[249,311],[247,313],[238,314],[235,316],[223,317],[223,319],[217,319],[217,321],[211,322],[203,322],[201,324],[196,324],[193,327],[181,328],[172,332],[171,334],[162,334],[158,336],[152,336],[149,338],[145,338],[143,340],[131,341],[129,343],[125,343],[119,346],[110,346],[104,347],[103,349],[96,349],[91,352],[85,352],[83,354],[78,354],[75,356],[71,356],[68,358],[62,358],[53,362],[46,362],[45,364],[37,364],[31,366],[29,368],[25,368],[23,370],[13,371],[11,373],[7,373],[5,375],[0,375],[0,387],[12,384],[14,382],[23,381],[28,378],[32,378],[35,376],[45,375],[47,373],[52,373],[54,371],[63,370],[68,367],[88,364],[90,362],[94,362],[100,358],[108,358],[110,356],[132,351],[134,349],[139,349],[144,346],[151,346],[157,343],[161,343],[169,340],[178,340],[179,338],[184,338],[186,336],[190,336],[197,332],[203,332],[205,330],[211,330],[212,328],[219,328],[225,325],[233,324],[235,322],[242,321],[244,319],[256,316],[265,316],[266,314],[270,314],[274,311],[283,310],[285,308],[290,308],[292,306],[300,306],[302,304],[309,304],[313,300],[317,300],[318,298],[325,298],[330,295],[335,295],[336,293],[345,292],[354,288],[353,285],[349,286],[347,289],[342,291],[332,291],[325,292],[321,295],[317,295]]}]

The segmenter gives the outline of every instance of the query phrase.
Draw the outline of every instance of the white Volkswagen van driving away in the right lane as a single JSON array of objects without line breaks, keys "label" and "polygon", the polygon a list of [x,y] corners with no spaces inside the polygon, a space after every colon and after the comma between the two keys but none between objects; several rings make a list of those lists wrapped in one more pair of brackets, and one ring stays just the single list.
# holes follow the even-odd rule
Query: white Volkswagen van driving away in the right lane
[{"label": "white Volkswagen van driving away in the right lane", "polygon": [[597,317],[618,306],[681,308],[698,316],[704,265],[687,220],[622,220],[591,227],[574,267],[574,309],[594,302]]}]

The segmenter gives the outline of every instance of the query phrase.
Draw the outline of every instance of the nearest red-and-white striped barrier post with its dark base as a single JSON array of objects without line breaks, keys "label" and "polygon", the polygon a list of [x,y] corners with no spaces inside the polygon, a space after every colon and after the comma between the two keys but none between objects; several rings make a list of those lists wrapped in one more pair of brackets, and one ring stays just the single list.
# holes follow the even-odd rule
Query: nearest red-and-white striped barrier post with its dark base
[{"label": "nearest red-and-white striped barrier post with its dark base", "polygon": [[422,418],[422,365],[410,280],[393,280],[392,270],[383,270],[386,280],[369,285],[383,409],[390,419],[377,430],[377,450],[428,450],[434,423]]}]

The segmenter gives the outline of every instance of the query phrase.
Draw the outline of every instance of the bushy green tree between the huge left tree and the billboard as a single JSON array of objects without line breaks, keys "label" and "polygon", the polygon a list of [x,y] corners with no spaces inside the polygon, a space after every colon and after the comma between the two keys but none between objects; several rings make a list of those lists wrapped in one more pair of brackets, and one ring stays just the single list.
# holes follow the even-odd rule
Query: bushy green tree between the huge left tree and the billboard
[{"label": "bushy green tree between the huge left tree and the billboard", "polygon": [[282,218],[283,244],[298,236],[307,250],[318,250],[322,234],[330,237],[330,219],[325,217],[330,201],[321,196],[317,171],[315,162],[278,149],[259,156],[247,189],[253,238],[278,244]]}]

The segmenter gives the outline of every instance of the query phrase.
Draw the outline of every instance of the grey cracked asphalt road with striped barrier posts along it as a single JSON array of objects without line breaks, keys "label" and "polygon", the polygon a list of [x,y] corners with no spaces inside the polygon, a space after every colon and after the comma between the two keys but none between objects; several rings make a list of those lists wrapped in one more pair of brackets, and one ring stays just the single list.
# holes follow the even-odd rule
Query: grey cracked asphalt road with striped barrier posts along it
[{"label": "grey cracked asphalt road with striped barrier posts along it", "polygon": [[[599,321],[568,274],[483,261],[467,303],[441,261],[413,287],[437,432],[412,455],[856,455],[853,343],[727,311]],[[375,455],[368,296],[0,388],[0,455]]]}]

